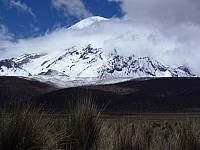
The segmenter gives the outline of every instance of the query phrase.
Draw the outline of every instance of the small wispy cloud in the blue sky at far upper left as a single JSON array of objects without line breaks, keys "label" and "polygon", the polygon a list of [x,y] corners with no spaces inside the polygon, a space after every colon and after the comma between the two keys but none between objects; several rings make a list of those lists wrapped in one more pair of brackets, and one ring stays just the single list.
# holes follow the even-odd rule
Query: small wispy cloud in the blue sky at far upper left
[{"label": "small wispy cloud in the blue sky at far upper left", "polygon": [[18,11],[29,13],[31,16],[36,17],[31,7],[27,6],[27,4],[21,0],[9,0],[9,6],[11,8],[16,8]]}]

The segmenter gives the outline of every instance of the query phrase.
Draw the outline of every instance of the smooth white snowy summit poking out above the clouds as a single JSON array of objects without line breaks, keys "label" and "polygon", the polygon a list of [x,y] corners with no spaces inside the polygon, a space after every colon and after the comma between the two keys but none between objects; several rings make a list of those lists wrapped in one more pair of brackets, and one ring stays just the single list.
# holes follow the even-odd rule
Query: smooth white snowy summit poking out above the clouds
[{"label": "smooth white snowy summit poking out above the clouds", "polygon": [[100,16],[92,16],[89,18],[86,18],[84,20],[81,20],[80,22],[76,23],[75,25],[69,27],[68,29],[83,29],[86,28],[94,23],[100,22],[100,21],[107,21],[109,19],[100,17]]}]

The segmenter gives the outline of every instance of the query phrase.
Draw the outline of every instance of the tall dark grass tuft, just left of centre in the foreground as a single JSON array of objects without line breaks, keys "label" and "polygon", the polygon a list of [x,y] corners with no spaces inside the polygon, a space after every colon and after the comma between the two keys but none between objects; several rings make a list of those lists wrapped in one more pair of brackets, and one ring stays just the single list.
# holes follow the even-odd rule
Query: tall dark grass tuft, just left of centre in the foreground
[{"label": "tall dark grass tuft, just left of centre in the foreground", "polygon": [[[65,119],[65,148],[71,150],[96,150],[101,141],[103,121],[101,111],[90,98],[73,105]],[[69,134],[70,133],[70,134]]]}]

